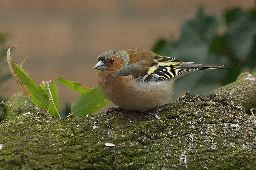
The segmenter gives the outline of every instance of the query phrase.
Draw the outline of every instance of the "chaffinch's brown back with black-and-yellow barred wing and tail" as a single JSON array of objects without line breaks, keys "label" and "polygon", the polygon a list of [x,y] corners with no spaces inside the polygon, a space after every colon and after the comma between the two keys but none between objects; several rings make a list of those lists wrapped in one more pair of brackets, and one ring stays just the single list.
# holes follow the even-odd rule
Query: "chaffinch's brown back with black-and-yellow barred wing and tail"
[{"label": "chaffinch's brown back with black-and-yellow barred wing and tail", "polygon": [[[193,62],[182,62],[172,57],[161,56],[146,50],[131,50],[130,56],[133,60],[120,70],[119,75],[133,75],[145,81],[162,81],[190,73],[194,70],[227,68],[217,64],[196,64]],[[143,60],[141,60],[143,58]]]}]

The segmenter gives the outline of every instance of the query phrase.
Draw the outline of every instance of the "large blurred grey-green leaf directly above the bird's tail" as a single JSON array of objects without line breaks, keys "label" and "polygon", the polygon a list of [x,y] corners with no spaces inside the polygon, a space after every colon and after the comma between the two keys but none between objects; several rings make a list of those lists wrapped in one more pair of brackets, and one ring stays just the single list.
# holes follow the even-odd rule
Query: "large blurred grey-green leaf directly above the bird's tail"
[{"label": "large blurred grey-green leaf directly above the bird's tail", "polygon": [[220,26],[217,16],[204,14],[202,7],[193,19],[181,25],[180,38],[173,43],[172,54],[176,59],[187,62],[205,62],[211,41]]}]

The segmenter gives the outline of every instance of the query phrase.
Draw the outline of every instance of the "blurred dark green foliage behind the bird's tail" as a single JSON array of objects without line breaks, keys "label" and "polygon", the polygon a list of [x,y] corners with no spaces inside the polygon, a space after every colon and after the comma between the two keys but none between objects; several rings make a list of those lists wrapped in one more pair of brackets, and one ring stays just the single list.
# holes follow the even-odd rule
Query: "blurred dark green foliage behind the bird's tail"
[{"label": "blurred dark green foliage behind the bird's tail", "polygon": [[207,93],[234,82],[243,71],[256,72],[256,10],[235,8],[225,11],[220,19],[205,15],[200,7],[195,18],[182,23],[178,40],[161,39],[152,51],[184,62],[228,66],[195,71],[176,80],[176,98],[186,91]]}]

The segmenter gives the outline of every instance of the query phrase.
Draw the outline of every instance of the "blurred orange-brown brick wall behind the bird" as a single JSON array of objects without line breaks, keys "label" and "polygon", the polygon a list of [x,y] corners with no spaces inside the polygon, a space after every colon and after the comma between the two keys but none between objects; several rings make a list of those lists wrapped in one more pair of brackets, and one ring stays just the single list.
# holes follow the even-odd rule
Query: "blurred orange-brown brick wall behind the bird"
[{"label": "blurred orange-brown brick wall behind the bird", "polygon": [[[9,33],[7,46],[17,45],[11,57],[31,78],[41,81],[62,76],[96,86],[92,69],[97,56],[109,49],[151,50],[158,38],[178,38],[180,24],[194,17],[199,5],[207,14],[225,9],[254,7],[253,0],[99,0],[99,1],[0,1],[0,30]],[[5,73],[9,72],[6,67]],[[63,102],[79,96],[58,84]],[[4,96],[21,91],[14,79]],[[3,95],[2,95],[3,96]]]}]

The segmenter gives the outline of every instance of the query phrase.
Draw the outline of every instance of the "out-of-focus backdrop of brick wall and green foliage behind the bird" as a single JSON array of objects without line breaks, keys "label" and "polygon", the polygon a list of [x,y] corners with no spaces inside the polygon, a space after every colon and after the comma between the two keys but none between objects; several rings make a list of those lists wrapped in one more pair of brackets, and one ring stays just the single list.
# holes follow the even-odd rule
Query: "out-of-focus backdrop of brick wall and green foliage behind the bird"
[{"label": "out-of-focus backdrop of brick wall and green foliage behind the bird", "polygon": [[[174,101],[185,92],[204,94],[233,82],[256,63],[253,0],[0,1],[0,97],[22,91],[10,76],[6,50],[37,83],[57,77],[98,85],[93,69],[109,49],[141,48],[185,62],[225,64],[176,82]],[[57,84],[61,108],[80,95]],[[111,104],[102,108],[106,111]]]}]

